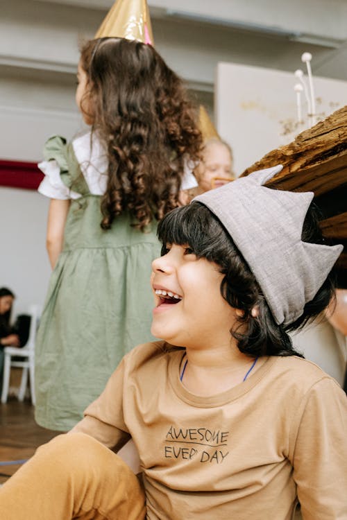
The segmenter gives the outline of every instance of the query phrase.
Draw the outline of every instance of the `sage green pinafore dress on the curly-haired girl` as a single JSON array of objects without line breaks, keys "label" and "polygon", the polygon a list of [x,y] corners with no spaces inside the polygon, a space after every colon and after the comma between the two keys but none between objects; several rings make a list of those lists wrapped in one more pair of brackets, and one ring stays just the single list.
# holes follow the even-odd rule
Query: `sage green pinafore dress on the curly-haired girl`
[{"label": "sage green pinafore dress on the curly-haired girl", "polygon": [[156,225],[131,226],[128,214],[101,229],[100,196],[90,193],[74,151],[56,138],[56,159],[71,200],[62,253],[51,275],[35,349],[35,419],[69,430],[98,397],[130,349],[149,340],[151,262],[160,255]]}]

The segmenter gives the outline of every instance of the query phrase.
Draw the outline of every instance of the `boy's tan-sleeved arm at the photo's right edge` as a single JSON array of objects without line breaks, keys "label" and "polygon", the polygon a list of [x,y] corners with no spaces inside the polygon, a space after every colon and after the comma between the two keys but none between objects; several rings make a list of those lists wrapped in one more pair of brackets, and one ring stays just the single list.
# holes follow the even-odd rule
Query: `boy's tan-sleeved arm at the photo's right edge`
[{"label": "boy's tan-sleeved arm at the photo's right edge", "polygon": [[303,404],[293,456],[304,520],[347,518],[347,399],[326,377]]}]

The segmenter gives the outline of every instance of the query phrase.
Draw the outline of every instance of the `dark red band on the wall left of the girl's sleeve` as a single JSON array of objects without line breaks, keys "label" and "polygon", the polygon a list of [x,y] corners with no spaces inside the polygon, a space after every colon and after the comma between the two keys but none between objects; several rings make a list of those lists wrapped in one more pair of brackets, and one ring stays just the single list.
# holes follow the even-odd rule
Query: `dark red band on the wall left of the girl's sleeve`
[{"label": "dark red band on the wall left of the girl's sleeve", "polygon": [[43,177],[35,162],[0,160],[0,186],[37,189]]}]

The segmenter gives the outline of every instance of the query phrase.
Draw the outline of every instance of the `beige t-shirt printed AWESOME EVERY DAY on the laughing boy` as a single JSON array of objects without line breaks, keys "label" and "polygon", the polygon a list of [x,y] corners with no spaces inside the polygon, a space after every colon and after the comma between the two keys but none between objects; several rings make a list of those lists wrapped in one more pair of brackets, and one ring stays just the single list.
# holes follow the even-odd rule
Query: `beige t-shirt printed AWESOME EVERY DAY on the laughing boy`
[{"label": "beige t-shirt printed AWESOME EVERY DAY on the laughing boy", "polygon": [[347,400],[319,367],[269,357],[234,388],[198,397],[180,382],[182,349],[127,354],[74,431],[139,451],[147,518],[347,519]]}]

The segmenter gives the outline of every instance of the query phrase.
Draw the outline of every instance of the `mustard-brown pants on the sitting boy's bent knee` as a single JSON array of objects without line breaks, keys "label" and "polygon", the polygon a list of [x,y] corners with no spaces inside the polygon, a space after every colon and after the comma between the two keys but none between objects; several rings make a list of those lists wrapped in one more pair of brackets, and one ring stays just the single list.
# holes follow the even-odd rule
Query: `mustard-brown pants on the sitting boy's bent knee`
[{"label": "mustard-brown pants on the sitting boy's bent knee", "polygon": [[2,520],[143,520],[139,480],[84,433],[58,435],[0,487]]}]

